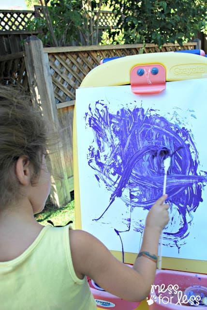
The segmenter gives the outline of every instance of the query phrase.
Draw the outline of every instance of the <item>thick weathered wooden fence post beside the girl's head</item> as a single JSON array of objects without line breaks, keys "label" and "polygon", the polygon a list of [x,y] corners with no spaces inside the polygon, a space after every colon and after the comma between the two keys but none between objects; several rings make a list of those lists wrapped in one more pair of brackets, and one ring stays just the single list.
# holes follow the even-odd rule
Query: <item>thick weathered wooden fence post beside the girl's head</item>
[{"label": "thick weathered wooden fence post beside the girl's head", "polygon": [[[36,36],[28,37],[25,41],[25,54],[32,103],[41,109],[44,117],[57,130],[59,120],[49,60],[47,53],[43,51],[42,41]],[[54,205],[61,207],[71,201],[61,137],[58,145],[52,146],[52,150],[49,151],[48,165],[51,170],[52,181],[50,199]]]}]

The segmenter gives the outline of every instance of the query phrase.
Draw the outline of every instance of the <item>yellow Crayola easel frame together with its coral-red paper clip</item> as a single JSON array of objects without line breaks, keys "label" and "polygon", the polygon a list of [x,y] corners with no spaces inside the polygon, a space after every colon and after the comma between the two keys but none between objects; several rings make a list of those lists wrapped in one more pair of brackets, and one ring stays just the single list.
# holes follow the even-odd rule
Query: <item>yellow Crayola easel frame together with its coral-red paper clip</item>
[{"label": "yellow Crayola easel frame together with its coral-red paper clip", "polygon": [[[141,69],[152,72],[154,68],[159,70],[159,74],[152,74],[150,87],[146,83],[143,75],[138,75]],[[143,76],[143,78],[142,78]],[[93,69],[84,78],[80,88],[118,86],[131,84],[133,93],[155,94],[163,91],[166,82],[187,79],[207,78],[207,58],[203,56],[184,54],[184,53],[152,53],[135,56],[127,56],[102,65]],[[78,104],[81,104],[78,102]],[[78,146],[76,131],[76,112],[74,113],[74,199],[75,199],[75,222],[76,228],[82,228],[79,192],[79,170],[78,170]],[[112,250],[114,256],[121,260],[121,253]],[[125,261],[133,263],[135,253],[125,253]],[[186,260],[180,258],[163,257],[163,269],[174,269],[191,271],[197,273],[207,273],[207,261]],[[143,301],[139,310],[148,310],[146,301]]]}]

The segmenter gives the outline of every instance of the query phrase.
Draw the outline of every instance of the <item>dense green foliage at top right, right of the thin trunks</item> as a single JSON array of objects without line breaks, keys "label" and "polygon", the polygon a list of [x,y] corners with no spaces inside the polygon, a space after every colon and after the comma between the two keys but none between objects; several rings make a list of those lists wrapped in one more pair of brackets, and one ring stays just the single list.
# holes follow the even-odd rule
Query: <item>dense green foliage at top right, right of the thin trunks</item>
[{"label": "dense green foliage at top right, right of the thin trunks", "polygon": [[124,29],[126,44],[192,40],[207,27],[207,0],[114,0],[118,30]]}]

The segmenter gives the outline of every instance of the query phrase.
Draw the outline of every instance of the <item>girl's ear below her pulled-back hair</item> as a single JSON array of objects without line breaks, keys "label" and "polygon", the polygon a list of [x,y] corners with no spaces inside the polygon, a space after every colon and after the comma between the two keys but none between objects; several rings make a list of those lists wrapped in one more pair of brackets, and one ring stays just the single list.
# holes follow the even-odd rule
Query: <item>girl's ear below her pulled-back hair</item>
[{"label": "girl's ear below her pulled-back hair", "polygon": [[26,155],[20,156],[15,166],[16,177],[22,185],[30,185],[30,160]]}]

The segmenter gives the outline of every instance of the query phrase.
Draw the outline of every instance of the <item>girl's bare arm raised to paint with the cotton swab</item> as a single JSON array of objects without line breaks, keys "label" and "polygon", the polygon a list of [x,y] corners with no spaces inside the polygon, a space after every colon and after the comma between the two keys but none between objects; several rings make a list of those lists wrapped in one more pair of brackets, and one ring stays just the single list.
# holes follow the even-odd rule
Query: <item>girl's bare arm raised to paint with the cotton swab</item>
[{"label": "girl's bare arm raised to paint with the cotton swab", "polygon": [[[169,220],[163,195],[152,206],[146,219],[141,251],[157,254],[159,237]],[[70,230],[72,260],[76,275],[93,279],[105,291],[130,301],[146,298],[154,282],[156,263],[137,257],[133,268],[119,262],[101,241],[89,233]]]}]

